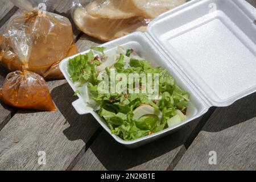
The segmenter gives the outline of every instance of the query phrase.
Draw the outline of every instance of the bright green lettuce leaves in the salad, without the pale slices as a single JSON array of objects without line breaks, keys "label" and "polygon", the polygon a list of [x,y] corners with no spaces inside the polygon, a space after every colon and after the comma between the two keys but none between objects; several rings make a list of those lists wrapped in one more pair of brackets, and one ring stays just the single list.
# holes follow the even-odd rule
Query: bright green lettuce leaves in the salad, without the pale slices
[{"label": "bright green lettuce leaves in the salad, without the pale slices", "polygon": [[[92,50],[104,55],[104,47],[93,47]],[[133,49],[127,49],[126,54],[119,55],[114,64],[115,72],[123,73],[129,78],[129,73],[158,73],[159,74],[159,100],[150,100],[144,93],[108,93],[98,92],[101,80],[98,80],[95,67],[102,64],[99,56],[94,56],[90,51],[85,55],[79,55],[69,60],[68,72],[73,82],[88,85],[89,97],[100,104],[97,113],[105,119],[106,125],[113,134],[123,140],[134,140],[147,135],[157,133],[168,127],[168,119],[177,114],[177,109],[185,111],[189,104],[189,94],[176,85],[176,82],[166,69],[152,67],[147,60],[137,60],[127,57]],[[126,57],[127,56],[127,57]],[[128,63],[126,63],[128,62]],[[125,68],[126,65],[129,67]],[[110,78],[110,68],[105,69]],[[119,80],[121,81],[121,80]],[[141,79],[139,80],[141,85]],[[118,83],[118,80],[115,80]],[[127,84],[129,88],[129,84]],[[140,88],[141,89],[141,88]],[[79,92],[76,92],[78,94]],[[150,105],[162,112],[162,120],[156,115],[143,115],[137,121],[133,120],[133,111],[141,105]]]}]

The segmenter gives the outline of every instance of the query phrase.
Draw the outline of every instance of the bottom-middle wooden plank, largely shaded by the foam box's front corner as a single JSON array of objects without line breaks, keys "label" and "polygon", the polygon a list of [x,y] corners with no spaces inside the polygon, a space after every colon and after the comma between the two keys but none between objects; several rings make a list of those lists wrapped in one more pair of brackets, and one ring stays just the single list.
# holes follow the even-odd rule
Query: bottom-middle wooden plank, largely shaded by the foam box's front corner
[{"label": "bottom-middle wooden plank, largely shaded by the foam box's front corner", "polygon": [[198,122],[199,119],[168,137],[136,149],[118,144],[102,131],[73,170],[166,170],[177,154],[185,150],[184,142]]}]

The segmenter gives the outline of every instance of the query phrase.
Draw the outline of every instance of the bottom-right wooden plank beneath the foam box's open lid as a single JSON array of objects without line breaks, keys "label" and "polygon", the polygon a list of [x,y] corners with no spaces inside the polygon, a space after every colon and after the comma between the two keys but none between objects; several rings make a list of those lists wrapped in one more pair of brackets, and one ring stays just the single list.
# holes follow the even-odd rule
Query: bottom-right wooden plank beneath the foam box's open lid
[{"label": "bottom-right wooden plank beneath the foam box's open lid", "polygon": [[[255,170],[256,93],[230,107],[218,108],[175,170]],[[209,151],[217,165],[209,165]]]}]

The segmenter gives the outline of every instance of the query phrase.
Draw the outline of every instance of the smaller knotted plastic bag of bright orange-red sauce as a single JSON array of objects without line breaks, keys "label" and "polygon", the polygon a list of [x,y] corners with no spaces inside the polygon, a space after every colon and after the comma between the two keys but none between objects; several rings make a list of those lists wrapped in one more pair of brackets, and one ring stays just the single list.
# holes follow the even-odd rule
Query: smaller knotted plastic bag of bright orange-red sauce
[{"label": "smaller knotted plastic bag of bright orange-red sauce", "polygon": [[0,98],[6,105],[22,109],[55,110],[46,81],[29,71],[9,73],[0,89]]}]

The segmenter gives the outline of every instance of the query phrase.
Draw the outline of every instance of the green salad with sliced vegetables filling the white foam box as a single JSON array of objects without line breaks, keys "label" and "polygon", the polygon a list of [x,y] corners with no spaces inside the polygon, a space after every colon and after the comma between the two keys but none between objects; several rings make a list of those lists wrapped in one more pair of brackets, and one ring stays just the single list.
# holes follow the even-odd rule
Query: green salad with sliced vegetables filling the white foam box
[{"label": "green salad with sliced vegetables filling the white foam box", "polygon": [[[186,119],[189,93],[176,85],[166,69],[153,67],[133,49],[118,47],[109,55],[104,50],[104,47],[94,47],[70,59],[68,72],[77,88],[75,94],[86,98],[113,134],[123,140],[134,140],[179,125]],[[151,82],[151,90],[158,92],[144,92],[149,89],[145,88],[148,84],[143,84],[142,77],[137,78],[137,82],[127,81],[133,74],[157,75],[144,81]],[[118,84],[123,87],[113,92],[112,85]]]}]

